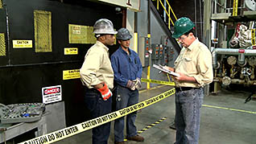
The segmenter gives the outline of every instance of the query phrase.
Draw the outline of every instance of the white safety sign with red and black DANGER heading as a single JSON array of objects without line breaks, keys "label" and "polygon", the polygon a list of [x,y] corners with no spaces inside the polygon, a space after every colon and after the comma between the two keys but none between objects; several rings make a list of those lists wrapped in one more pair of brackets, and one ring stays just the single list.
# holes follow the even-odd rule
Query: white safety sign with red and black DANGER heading
[{"label": "white safety sign with red and black DANGER heading", "polygon": [[61,85],[42,88],[43,103],[49,104],[62,100]]}]

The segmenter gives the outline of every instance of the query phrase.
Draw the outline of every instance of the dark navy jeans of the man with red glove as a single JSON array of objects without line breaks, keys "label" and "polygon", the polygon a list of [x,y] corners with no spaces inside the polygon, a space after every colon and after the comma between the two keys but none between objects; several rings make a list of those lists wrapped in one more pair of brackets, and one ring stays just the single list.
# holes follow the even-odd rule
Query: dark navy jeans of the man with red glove
[{"label": "dark navy jeans of the man with red glove", "polygon": [[[101,93],[95,88],[86,89],[85,105],[90,111],[91,118],[111,113],[112,97],[104,101]],[[107,144],[110,134],[110,122],[93,128],[93,144]]]}]

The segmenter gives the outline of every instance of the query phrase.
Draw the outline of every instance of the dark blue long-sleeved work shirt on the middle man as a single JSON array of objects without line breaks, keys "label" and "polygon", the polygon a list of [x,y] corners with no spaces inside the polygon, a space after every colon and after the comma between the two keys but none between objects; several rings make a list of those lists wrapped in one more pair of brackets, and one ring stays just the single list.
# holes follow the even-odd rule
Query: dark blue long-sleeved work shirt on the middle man
[{"label": "dark blue long-sleeved work shirt on the middle man", "polygon": [[126,87],[128,80],[142,77],[142,63],[138,54],[129,48],[130,55],[119,47],[111,56],[111,65],[114,70],[114,80]]}]

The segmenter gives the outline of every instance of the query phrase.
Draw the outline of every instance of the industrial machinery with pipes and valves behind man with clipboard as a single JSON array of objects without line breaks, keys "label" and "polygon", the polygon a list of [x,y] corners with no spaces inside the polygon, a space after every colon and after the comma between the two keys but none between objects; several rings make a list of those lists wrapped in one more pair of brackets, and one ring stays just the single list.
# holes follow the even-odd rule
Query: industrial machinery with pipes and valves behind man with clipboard
[{"label": "industrial machinery with pipes and valves behind man with clipboard", "polygon": [[221,2],[211,2],[214,93],[220,86],[256,84],[255,2]]}]

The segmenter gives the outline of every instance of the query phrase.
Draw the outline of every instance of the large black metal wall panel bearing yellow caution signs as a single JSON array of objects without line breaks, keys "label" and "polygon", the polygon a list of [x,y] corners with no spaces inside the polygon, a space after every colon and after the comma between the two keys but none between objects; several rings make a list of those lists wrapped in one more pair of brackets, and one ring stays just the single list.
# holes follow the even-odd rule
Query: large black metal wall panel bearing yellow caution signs
[{"label": "large black metal wall panel bearing yellow caution signs", "polygon": [[[0,103],[41,102],[41,88],[62,85],[67,125],[89,118],[83,103],[84,87],[80,79],[63,80],[63,71],[79,69],[92,44],[68,43],[68,24],[93,26],[106,18],[114,28],[122,27],[122,14],[114,6],[94,2],[49,0],[3,0],[8,13],[10,52],[0,56]],[[35,52],[34,10],[52,12],[52,52]],[[0,9],[0,32],[6,32],[6,12]],[[12,48],[13,39],[31,39],[33,48]],[[78,55],[65,56],[64,47],[78,47]],[[113,53],[117,46],[110,47]],[[9,56],[10,55],[10,59]]]}]

